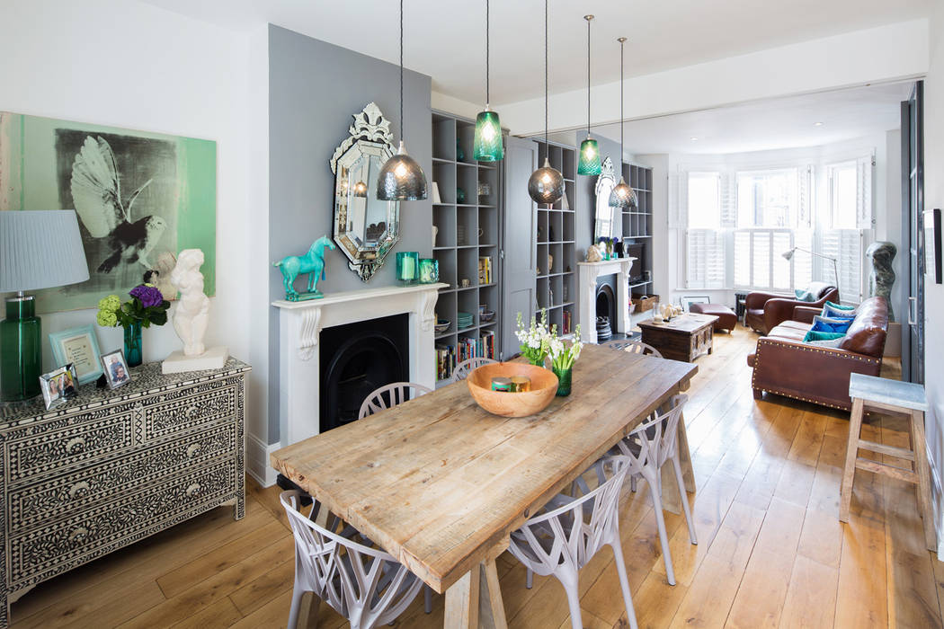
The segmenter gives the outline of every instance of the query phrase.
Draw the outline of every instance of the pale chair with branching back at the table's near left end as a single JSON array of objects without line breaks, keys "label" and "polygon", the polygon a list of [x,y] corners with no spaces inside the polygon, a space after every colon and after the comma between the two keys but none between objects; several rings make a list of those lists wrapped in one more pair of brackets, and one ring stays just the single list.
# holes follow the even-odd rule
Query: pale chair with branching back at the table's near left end
[{"label": "pale chair with branching back at the table's near left end", "polygon": [[[295,537],[295,586],[289,629],[295,629],[302,596],[312,592],[350,622],[351,629],[372,629],[395,621],[413,603],[423,582],[392,555],[356,541],[359,534],[306,494],[292,489],[279,495]],[[315,521],[324,518],[325,526]],[[366,543],[370,543],[367,541]]]}]

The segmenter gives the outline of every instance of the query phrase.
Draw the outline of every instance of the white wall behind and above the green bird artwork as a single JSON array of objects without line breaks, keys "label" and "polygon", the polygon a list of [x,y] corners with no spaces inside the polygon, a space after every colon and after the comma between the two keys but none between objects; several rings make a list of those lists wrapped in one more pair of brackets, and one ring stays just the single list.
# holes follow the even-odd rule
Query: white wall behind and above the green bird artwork
[{"label": "white wall behind and above the green bird artwork", "polygon": [[[244,35],[128,0],[5,0],[0,19],[0,109],[216,141],[217,296],[208,341],[255,363],[264,355],[250,344],[250,320],[260,307],[247,285],[266,259],[255,213],[268,213],[247,199],[247,182],[265,177],[250,164],[249,131],[266,126],[246,106],[258,94],[248,90],[249,54]],[[42,315],[42,330],[93,322],[93,310],[52,313]],[[120,328],[97,330],[103,351],[122,345]],[[143,345],[145,360],[159,360],[180,341],[168,324],[144,330]],[[43,355],[51,368],[48,343]],[[251,381],[260,377],[264,370]],[[264,431],[256,401],[248,402],[247,427]]]}]

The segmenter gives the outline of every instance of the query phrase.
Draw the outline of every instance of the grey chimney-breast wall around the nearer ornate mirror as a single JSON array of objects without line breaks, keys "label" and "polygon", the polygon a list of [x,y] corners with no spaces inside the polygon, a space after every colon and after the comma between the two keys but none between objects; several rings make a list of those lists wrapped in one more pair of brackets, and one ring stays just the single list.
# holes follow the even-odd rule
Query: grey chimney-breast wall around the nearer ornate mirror
[{"label": "grey chimney-breast wall around the nearer ornate mirror", "polygon": [[[430,77],[404,73],[406,142],[410,155],[429,176],[432,171]],[[343,141],[351,116],[374,101],[392,121],[400,139],[399,67],[346,48],[269,25],[269,251],[273,260],[308,251],[312,241],[331,234],[334,175],[329,160]],[[431,255],[429,200],[400,204],[403,240],[394,250]],[[326,252],[326,293],[390,286],[395,280],[391,253],[378,273],[363,283],[347,268],[340,251]],[[299,284],[300,285],[300,284]],[[269,296],[284,299],[281,274],[270,269]],[[269,443],[277,443],[278,308],[269,312]]]}]

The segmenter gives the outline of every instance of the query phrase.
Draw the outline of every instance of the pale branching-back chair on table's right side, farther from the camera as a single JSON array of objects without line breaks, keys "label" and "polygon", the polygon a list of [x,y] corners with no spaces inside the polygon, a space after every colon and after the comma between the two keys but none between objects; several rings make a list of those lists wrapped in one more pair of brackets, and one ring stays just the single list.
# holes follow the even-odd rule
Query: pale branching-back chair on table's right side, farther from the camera
[{"label": "pale branching-back chair on table's right side, farther from the camera", "polygon": [[[675,585],[675,571],[672,570],[672,555],[668,550],[668,536],[666,534],[666,519],[662,513],[662,466],[672,462],[676,484],[679,487],[679,497],[682,501],[682,510],[688,524],[688,537],[693,544],[697,544],[695,536],[695,522],[692,521],[691,509],[688,506],[688,497],[685,495],[685,485],[682,477],[682,463],[679,460],[679,422],[682,420],[682,410],[687,395],[676,395],[669,403],[665,413],[654,412],[647,422],[641,423],[632,430],[627,437],[616,443],[616,450],[629,461],[629,474],[632,490],[636,490],[636,479],[643,478],[649,484],[649,493],[652,495],[652,504],[655,508],[656,524],[659,527],[659,541],[662,544],[663,560],[666,562],[666,578],[668,585]],[[605,467],[607,458],[600,459],[596,468]],[[598,470],[598,474],[599,474]]]}]

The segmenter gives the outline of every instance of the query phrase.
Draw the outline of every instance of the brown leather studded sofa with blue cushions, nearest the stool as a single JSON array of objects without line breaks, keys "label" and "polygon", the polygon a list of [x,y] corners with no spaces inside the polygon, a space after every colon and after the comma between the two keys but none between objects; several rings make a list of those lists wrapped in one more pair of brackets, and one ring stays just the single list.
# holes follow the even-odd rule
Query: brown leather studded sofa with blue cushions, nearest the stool
[{"label": "brown leather studded sofa with blue cushions, nearest the stool", "polygon": [[850,410],[850,374],[879,374],[888,330],[885,298],[869,297],[862,302],[849,332],[836,348],[801,342],[819,312],[821,308],[797,306],[792,320],[757,339],[757,349],[748,356],[748,365],[754,370],[751,387],[755,399],[761,399],[767,391]]}]

